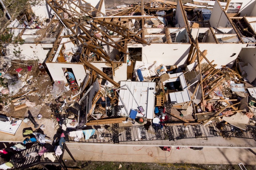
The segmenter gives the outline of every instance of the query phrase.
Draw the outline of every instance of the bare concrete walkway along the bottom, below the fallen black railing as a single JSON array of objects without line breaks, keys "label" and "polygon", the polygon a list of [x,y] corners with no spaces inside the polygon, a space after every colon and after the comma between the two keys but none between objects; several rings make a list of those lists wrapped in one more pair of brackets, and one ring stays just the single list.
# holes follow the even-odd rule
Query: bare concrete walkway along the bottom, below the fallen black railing
[{"label": "bare concrete walkway along the bottom, below the fallen black railing", "polygon": [[[67,143],[67,147],[76,160],[112,161],[112,162],[159,162],[192,164],[243,164],[256,165],[256,155],[248,149],[233,148],[190,148],[163,151],[160,147],[133,147],[120,145],[76,145]],[[256,151],[256,149],[253,149]],[[64,158],[70,160],[65,152]]]}]

